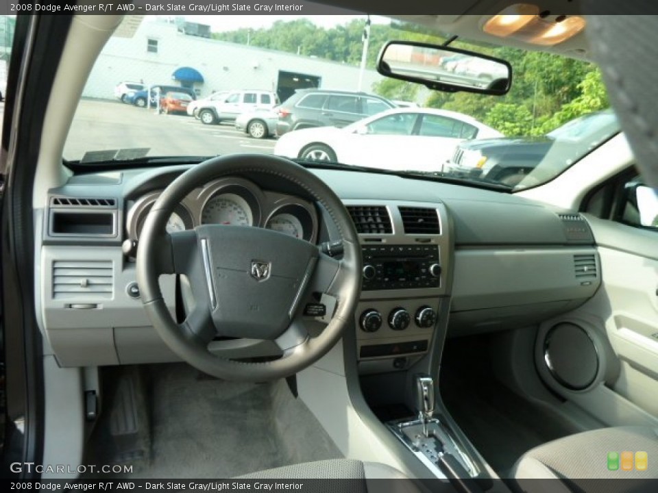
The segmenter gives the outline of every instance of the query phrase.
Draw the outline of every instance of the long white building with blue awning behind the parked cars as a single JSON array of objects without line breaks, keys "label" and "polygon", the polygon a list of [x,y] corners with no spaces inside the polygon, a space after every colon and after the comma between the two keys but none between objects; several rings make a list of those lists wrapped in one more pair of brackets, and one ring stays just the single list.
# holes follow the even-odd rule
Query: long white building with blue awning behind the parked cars
[{"label": "long white building with blue awning behind the parked cars", "polygon": [[[357,66],[190,36],[173,23],[143,20],[128,36],[108,40],[84,97],[112,99],[121,81],[192,86],[200,97],[217,90],[271,90],[282,100],[295,88],[358,89]],[[195,69],[203,81],[173,79],[182,67]],[[375,71],[365,71],[363,90],[370,92],[380,79]]]}]

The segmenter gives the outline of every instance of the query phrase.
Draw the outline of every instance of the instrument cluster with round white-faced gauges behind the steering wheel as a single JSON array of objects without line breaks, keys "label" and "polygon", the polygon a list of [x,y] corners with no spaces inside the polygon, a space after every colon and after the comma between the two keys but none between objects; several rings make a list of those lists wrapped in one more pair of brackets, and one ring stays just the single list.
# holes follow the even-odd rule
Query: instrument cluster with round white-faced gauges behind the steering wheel
[{"label": "instrument cluster with round white-faced gauges behind the steering wheel", "polygon": [[[149,210],[162,190],[143,195],[126,218],[128,238],[138,240]],[[175,207],[167,231],[194,229],[199,225],[264,227],[315,242],[317,213],[312,203],[287,194],[263,190],[243,178],[223,178],[197,188]]]}]

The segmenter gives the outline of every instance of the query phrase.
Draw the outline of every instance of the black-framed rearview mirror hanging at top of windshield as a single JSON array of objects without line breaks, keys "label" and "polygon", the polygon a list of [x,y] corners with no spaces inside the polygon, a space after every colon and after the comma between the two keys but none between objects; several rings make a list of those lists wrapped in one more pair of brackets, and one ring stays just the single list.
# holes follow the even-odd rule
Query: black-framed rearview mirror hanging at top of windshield
[{"label": "black-framed rearview mirror hanging at top of windshield", "polygon": [[512,83],[512,67],[505,60],[414,41],[388,42],[380,51],[377,71],[444,92],[502,95]]}]

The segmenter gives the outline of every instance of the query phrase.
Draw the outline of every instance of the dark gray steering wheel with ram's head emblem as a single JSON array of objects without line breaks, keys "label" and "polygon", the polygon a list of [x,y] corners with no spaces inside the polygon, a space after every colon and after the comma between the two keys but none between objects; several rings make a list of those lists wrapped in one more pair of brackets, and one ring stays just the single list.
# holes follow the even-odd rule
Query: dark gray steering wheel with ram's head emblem
[{"label": "dark gray steering wheel with ram's head emblem", "polygon": [[[245,173],[287,180],[313,197],[336,226],[341,260],[305,240],[258,227],[199,225],[165,231],[175,206],[195,188]],[[145,220],[136,268],[142,303],[164,343],[188,364],[227,380],[278,379],[313,364],[338,342],[361,291],[361,249],[343,203],[316,175],[271,155],[215,157],[175,179]],[[184,275],[189,281],[194,302],[182,323],[164,303],[158,284],[162,274]],[[303,316],[311,293],[326,307],[326,326],[315,337]],[[225,359],[208,350],[218,336],[270,340],[282,357],[268,362]]]}]

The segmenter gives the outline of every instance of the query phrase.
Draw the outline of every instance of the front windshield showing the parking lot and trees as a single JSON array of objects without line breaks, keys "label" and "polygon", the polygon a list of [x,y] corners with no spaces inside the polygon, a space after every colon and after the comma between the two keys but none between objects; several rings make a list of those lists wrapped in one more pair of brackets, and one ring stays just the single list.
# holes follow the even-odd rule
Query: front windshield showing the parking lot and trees
[{"label": "front windshield showing the parking lot and trees", "polygon": [[[388,40],[447,38],[365,15],[127,16],[88,78],[64,159],[92,170],[274,153],[519,190],[619,132],[598,68],[580,60],[453,42],[510,62],[504,97],[433,92],[374,70]],[[462,75],[488,66],[439,63]]]}]

